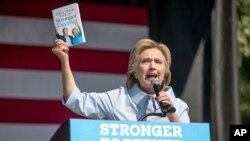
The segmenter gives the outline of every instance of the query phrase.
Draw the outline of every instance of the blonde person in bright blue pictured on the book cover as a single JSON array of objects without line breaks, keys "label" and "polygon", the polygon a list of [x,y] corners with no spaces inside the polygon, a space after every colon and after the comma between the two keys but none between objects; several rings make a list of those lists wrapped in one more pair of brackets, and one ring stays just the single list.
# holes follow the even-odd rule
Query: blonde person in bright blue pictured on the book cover
[{"label": "blonde person in bright blue pictured on the book cover", "polygon": [[77,45],[83,43],[83,31],[81,30],[80,24],[76,24],[76,27],[72,29],[72,35],[74,36],[72,39],[72,44]]}]

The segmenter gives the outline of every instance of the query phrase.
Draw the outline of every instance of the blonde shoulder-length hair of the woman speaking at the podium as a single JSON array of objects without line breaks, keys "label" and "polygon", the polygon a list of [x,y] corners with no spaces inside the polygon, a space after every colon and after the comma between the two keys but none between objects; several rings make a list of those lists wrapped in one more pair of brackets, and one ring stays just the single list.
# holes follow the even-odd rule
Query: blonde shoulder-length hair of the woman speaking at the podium
[{"label": "blonde shoulder-length hair of the woman speaking at the podium", "polygon": [[165,57],[166,72],[164,75],[164,80],[161,84],[161,89],[169,85],[171,81],[171,72],[170,72],[171,53],[169,48],[165,44],[155,42],[154,40],[151,39],[141,39],[134,45],[133,49],[130,52],[127,81],[126,81],[126,86],[128,88],[131,88],[134,84],[139,83],[135,78],[134,74],[140,63],[140,55],[144,50],[151,48],[156,48],[160,50],[163,56]]}]

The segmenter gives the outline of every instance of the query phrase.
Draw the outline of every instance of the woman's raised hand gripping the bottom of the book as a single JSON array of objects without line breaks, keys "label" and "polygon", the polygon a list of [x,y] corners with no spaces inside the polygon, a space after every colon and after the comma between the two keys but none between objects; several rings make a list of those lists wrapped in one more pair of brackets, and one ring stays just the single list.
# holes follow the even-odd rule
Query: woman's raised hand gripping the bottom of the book
[{"label": "woman's raised hand gripping the bottom of the book", "polygon": [[68,61],[69,59],[69,55],[68,55],[69,47],[67,43],[65,43],[61,39],[56,39],[54,41],[52,52],[60,59],[61,62]]}]

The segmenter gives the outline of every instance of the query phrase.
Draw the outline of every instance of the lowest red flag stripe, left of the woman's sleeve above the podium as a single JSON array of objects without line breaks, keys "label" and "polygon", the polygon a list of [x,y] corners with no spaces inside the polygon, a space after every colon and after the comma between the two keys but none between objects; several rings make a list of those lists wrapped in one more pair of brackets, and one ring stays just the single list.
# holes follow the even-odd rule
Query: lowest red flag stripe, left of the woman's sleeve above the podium
[{"label": "lowest red flag stripe, left of the woman's sleeve above the podium", "polygon": [[0,122],[61,124],[69,118],[84,118],[58,100],[0,98]]}]

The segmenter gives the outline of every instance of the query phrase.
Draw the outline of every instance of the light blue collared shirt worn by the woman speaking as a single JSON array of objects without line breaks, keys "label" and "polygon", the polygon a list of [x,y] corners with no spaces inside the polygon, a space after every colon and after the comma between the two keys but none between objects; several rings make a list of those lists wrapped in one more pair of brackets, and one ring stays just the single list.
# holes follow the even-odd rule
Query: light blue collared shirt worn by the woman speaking
[{"label": "light blue collared shirt worn by the woman speaking", "polygon": [[[187,104],[175,97],[171,87],[166,91],[166,94],[174,103],[180,121],[189,123]],[[73,112],[92,119],[138,121],[146,113],[161,112],[155,101],[155,94],[147,94],[137,85],[131,89],[120,87],[103,93],[82,93],[78,87],[75,87],[70,97],[63,103]],[[169,119],[150,116],[146,121],[169,122]]]}]

